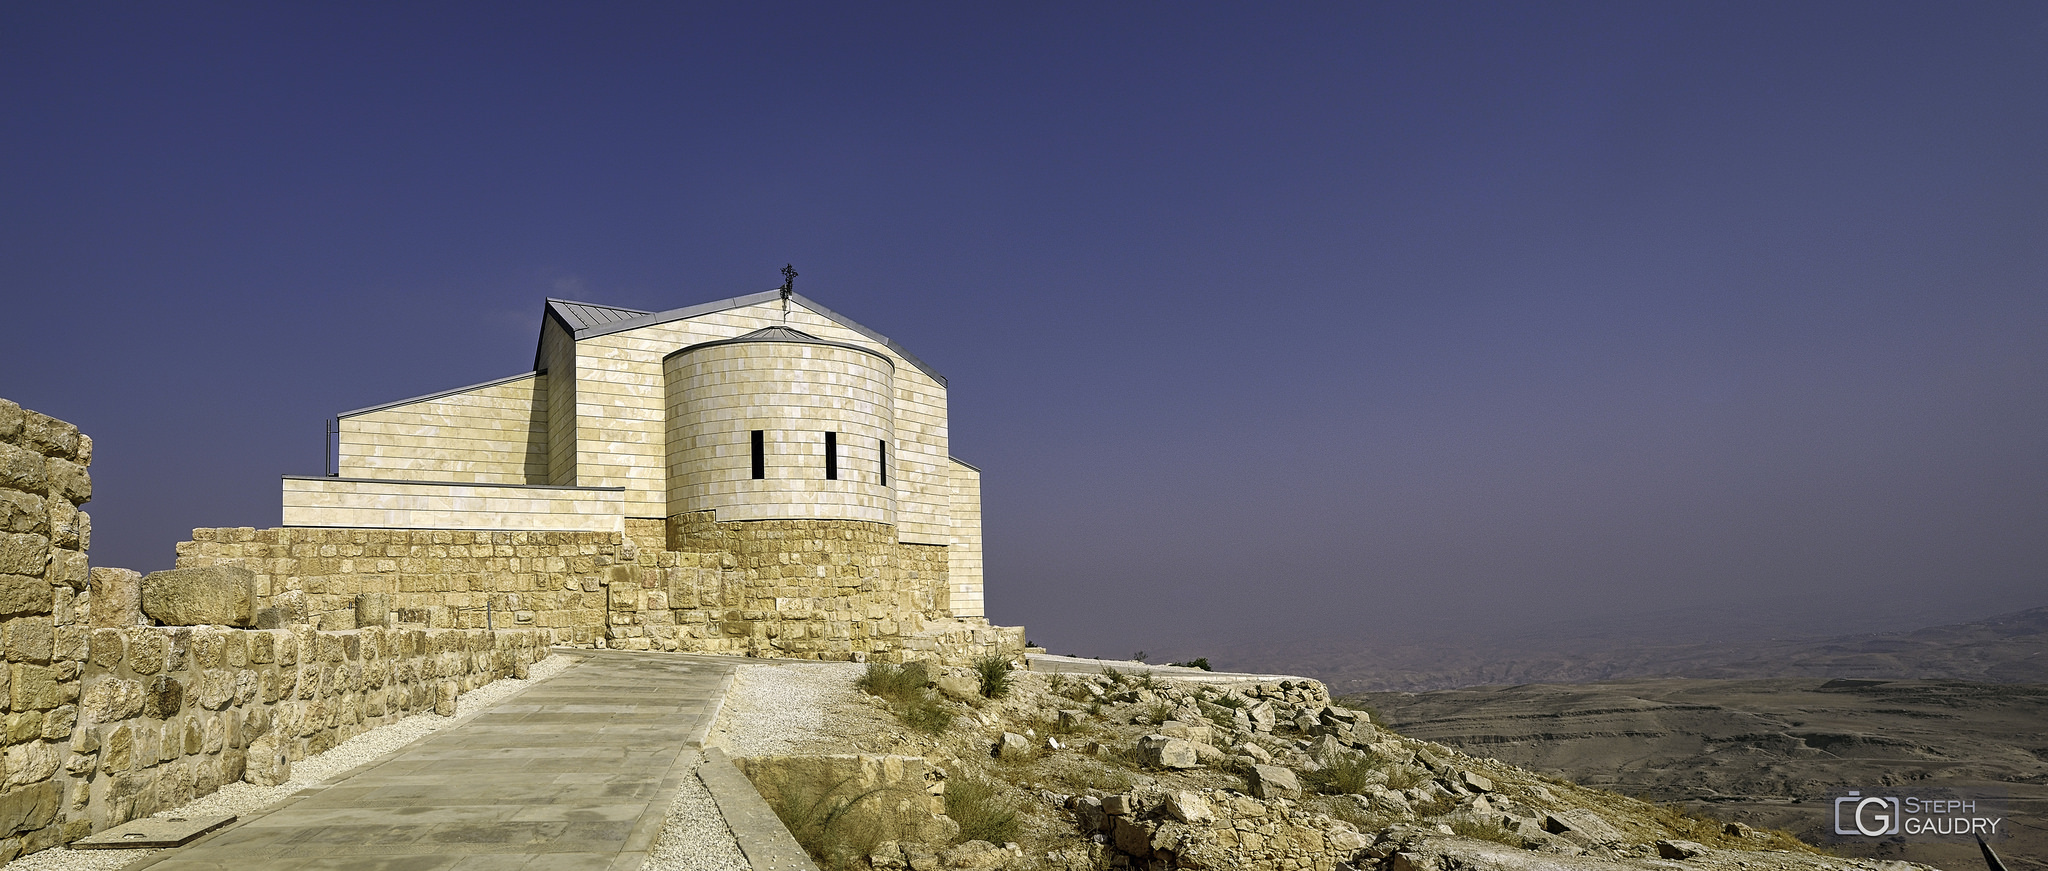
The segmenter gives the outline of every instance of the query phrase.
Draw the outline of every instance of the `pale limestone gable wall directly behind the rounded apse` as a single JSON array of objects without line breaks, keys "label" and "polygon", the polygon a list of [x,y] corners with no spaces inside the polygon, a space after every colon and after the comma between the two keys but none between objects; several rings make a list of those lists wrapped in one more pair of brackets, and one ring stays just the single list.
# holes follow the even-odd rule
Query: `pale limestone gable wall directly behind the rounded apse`
[{"label": "pale limestone gable wall directly behind the rounded apse", "polygon": [[803,305],[793,305],[786,320],[780,303],[756,303],[575,342],[578,484],[627,488],[627,516],[670,516],[662,359],[690,344],[766,326],[872,348],[895,363],[889,484],[895,490],[897,533],[903,541],[948,543],[946,387],[889,346]]}]

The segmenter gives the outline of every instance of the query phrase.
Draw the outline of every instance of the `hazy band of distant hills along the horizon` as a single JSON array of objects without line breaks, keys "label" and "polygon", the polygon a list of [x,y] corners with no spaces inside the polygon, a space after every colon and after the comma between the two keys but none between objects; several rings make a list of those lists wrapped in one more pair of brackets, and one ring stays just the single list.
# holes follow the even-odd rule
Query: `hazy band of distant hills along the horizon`
[{"label": "hazy band of distant hills along the horizon", "polygon": [[1333,693],[1681,678],[1868,678],[2048,685],[2048,607],[1896,633],[1663,641],[1655,629],[1561,629],[1438,641],[1303,639],[1225,648],[1219,668],[1321,678]]}]

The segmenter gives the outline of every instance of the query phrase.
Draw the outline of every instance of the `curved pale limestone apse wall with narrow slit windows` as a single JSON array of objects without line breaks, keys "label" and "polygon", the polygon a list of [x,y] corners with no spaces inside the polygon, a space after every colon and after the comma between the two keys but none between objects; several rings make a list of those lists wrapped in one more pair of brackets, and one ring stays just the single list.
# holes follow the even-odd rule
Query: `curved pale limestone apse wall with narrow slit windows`
[{"label": "curved pale limestone apse wall with narrow slit windows", "polygon": [[[680,350],[668,379],[668,504],[727,521],[895,523],[879,451],[891,434],[891,363],[829,344],[739,342]],[[752,432],[764,473],[754,478]],[[825,432],[836,480],[825,480]]]}]

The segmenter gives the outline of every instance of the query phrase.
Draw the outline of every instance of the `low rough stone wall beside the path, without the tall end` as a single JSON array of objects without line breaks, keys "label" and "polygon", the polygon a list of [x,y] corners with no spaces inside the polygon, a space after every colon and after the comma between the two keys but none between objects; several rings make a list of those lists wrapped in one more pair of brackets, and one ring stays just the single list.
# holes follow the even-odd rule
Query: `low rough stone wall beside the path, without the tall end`
[{"label": "low rough stone wall beside the path, without the tall end", "polygon": [[[526,676],[539,629],[94,629],[66,771],[74,836],[176,807],[459,693]],[[70,840],[70,838],[68,838]]]}]

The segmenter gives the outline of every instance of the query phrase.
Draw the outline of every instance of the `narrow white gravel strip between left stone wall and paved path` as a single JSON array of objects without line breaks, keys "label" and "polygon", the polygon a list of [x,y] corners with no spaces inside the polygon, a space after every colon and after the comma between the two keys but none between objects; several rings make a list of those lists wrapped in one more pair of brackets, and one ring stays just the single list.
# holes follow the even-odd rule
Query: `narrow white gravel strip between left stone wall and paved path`
[{"label": "narrow white gravel strip between left stone wall and paved path", "polygon": [[[334,750],[324,754],[305,756],[291,762],[291,781],[276,787],[258,787],[254,783],[229,783],[215,791],[213,795],[193,799],[180,807],[156,812],[152,816],[219,816],[233,814],[246,816],[258,810],[270,807],[285,797],[297,793],[299,789],[322,783],[334,775],[354,769],[362,762],[375,760],[391,750],[412,744],[432,732],[440,732],[449,725],[467,721],[475,717],[485,707],[492,707],[504,697],[532,687],[535,680],[545,680],[561,674],[573,664],[569,656],[549,656],[547,660],[535,662],[526,668],[526,680],[504,678],[489,685],[477,687],[455,699],[453,717],[436,717],[432,713],[416,713],[412,717],[399,719],[391,725],[381,725],[354,736]],[[698,785],[702,789],[702,785]],[[705,797],[711,799],[709,795]],[[721,826],[723,828],[723,826]],[[70,851],[63,846],[51,846],[41,853],[31,853],[27,857],[6,863],[8,871],[115,871],[127,863],[147,857],[156,851]],[[741,865],[745,867],[745,865]]]}]

